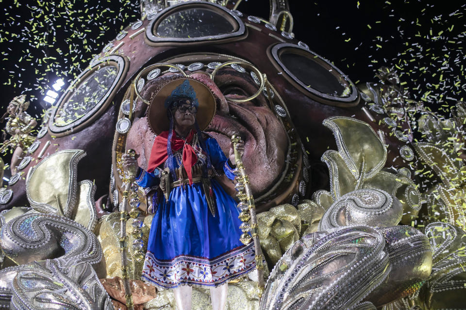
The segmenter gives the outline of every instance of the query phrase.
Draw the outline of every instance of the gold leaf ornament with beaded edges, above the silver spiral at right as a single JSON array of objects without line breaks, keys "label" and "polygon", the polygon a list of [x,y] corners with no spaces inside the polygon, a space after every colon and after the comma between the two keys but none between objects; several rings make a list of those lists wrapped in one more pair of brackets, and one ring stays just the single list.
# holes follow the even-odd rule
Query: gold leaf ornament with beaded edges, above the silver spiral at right
[{"label": "gold leaf ornament with beaded edges, above the silver spiral at right", "polygon": [[333,131],[338,152],[322,155],[330,174],[330,192],[317,191],[313,200],[328,208],[344,194],[361,188],[381,189],[399,199],[401,223],[411,225],[421,207],[416,184],[400,173],[382,171],[387,151],[380,137],[366,123],[349,117],[331,117],[323,124]]}]

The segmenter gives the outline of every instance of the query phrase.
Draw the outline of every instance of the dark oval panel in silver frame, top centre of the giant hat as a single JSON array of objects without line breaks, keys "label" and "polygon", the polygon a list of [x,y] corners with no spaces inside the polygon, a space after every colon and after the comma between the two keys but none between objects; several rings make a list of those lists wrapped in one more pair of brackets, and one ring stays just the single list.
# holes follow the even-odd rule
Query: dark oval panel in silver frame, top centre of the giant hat
[{"label": "dark oval panel in silver frame, top centre of the giant hat", "polygon": [[238,16],[221,5],[205,2],[170,6],[160,12],[146,30],[150,45],[162,42],[208,43],[244,33],[244,23]]}]

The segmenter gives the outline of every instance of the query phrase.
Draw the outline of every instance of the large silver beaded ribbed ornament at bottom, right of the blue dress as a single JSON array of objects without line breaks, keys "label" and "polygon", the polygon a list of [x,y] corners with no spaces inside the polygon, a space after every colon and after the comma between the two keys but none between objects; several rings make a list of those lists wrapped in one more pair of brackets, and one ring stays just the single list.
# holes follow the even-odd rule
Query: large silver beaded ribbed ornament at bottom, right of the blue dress
[{"label": "large silver beaded ribbed ornament at bottom, right of the blue dress", "polygon": [[374,228],[345,227],[313,243],[290,248],[293,260],[275,265],[261,310],[352,308],[390,272],[385,241]]}]

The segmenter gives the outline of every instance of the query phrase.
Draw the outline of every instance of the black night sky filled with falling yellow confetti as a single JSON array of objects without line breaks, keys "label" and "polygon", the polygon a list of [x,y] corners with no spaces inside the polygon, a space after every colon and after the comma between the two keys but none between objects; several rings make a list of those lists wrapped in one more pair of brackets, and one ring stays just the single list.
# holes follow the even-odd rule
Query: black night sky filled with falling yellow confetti
[{"label": "black night sky filled with falling yellow confetti", "polygon": [[[3,109],[26,93],[38,97],[30,108],[37,115],[41,92],[59,76],[68,84],[139,17],[136,0],[2,0],[0,5],[5,12],[0,27]],[[353,82],[377,81],[375,69],[396,65],[411,96],[424,98],[433,109],[448,114],[449,106],[466,97],[466,5],[460,1],[291,0],[290,7],[296,38]],[[243,1],[238,10],[268,19],[267,0]]]}]

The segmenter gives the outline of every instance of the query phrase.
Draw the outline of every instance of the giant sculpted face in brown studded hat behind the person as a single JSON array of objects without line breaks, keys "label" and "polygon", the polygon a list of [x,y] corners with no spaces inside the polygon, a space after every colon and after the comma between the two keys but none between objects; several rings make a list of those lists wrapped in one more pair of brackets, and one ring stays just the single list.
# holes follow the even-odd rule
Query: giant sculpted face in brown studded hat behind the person
[{"label": "giant sculpted face in brown studded hat behind the person", "polygon": [[2,208],[25,204],[28,171],[64,149],[87,152],[80,178],[95,180],[97,198],[109,194],[116,205],[123,177],[119,158],[132,147],[140,154],[139,165],[147,166],[154,138],[145,118],[147,104],[157,87],[175,75],[190,75],[215,94],[216,116],[206,131],[224,153],[233,132],[245,140],[243,159],[259,210],[296,204],[328,186],[320,156],[336,147],[322,126],[329,116],[371,123],[388,145],[387,162],[406,165],[399,140],[390,135],[395,121],[369,110],[350,79],[294,39],[290,29],[278,31],[255,16],[198,1],[143,16],[107,44],[59,100],[48,132],[40,132],[39,145],[20,167],[22,178],[10,185]]}]

